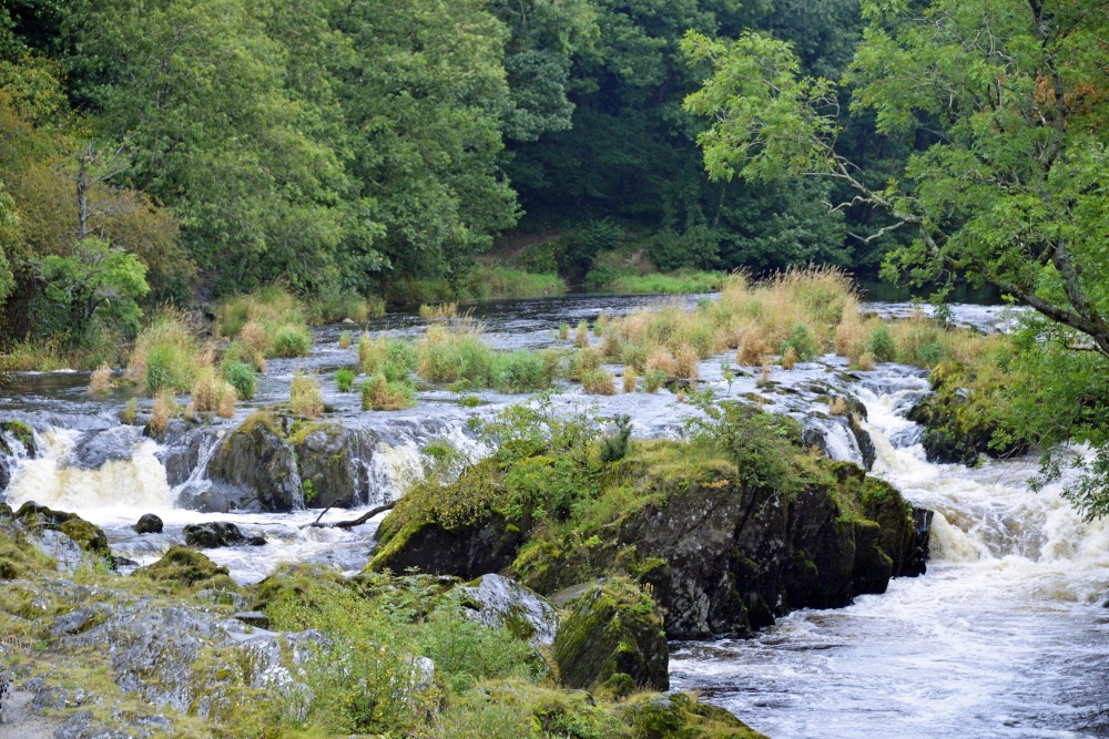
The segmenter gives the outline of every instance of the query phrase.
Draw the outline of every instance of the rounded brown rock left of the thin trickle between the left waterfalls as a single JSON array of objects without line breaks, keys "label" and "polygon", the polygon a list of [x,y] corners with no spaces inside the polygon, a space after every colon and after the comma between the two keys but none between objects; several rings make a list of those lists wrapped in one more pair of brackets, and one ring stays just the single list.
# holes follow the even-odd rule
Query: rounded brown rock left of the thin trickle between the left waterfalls
[{"label": "rounded brown rock left of the thin trickle between the left waterfalls", "polygon": [[303,505],[296,454],[279,432],[264,420],[248,421],[208,462],[208,479],[230,510],[284,513]]}]

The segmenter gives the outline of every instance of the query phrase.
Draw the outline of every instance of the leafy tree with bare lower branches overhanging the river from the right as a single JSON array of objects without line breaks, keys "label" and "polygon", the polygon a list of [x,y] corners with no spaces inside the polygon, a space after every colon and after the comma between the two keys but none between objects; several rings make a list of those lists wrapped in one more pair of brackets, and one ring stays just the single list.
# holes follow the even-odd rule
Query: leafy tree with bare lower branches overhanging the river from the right
[{"label": "leafy tree with bare lower branches overhanging the river from the right", "polygon": [[[801,74],[790,44],[746,32],[733,42],[690,33],[711,64],[686,110],[711,119],[699,143],[714,178],[827,178],[884,212],[875,242],[912,229],[888,277],[954,275],[1034,308],[1006,388],[1011,428],[1046,450],[1091,444],[1068,495],[1109,514],[1109,13],[1093,0],[865,0],[864,42],[843,80],[851,111],[879,132],[912,136],[899,176],[884,182],[838,147],[838,85]],[[1017,374],[1015,374],[1017,376]]]}]

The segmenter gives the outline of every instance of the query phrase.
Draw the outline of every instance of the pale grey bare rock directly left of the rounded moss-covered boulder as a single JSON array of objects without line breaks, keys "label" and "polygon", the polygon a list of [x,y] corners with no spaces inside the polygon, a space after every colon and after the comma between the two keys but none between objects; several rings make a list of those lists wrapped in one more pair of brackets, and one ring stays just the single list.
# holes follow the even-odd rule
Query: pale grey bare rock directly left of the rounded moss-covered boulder
[{"label": "pale grey bare rock directly left of the rounded moss-covered boulder", "polygon": [[558,610],[536,592],[500,575],[482,575],[456,589],[464,613],[486,626],[505,627],[532,644],[551,646]]}]

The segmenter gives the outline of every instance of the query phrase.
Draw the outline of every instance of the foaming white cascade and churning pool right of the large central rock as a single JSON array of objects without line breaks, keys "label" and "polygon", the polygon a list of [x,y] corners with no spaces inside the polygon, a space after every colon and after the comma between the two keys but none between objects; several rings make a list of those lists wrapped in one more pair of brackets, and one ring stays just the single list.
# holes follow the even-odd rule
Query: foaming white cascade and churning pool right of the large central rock
[{"label": "foaming white cascade and churning pool right of the large central rock", "polygon": [[1034,461],[927,462],[904,418],[926,383],[874,374],[873,472],[936,512],[928,573],[750,640],[675,645],[674,687],[773,739],[1109,736],[1109,525],[1030,491]]}]

